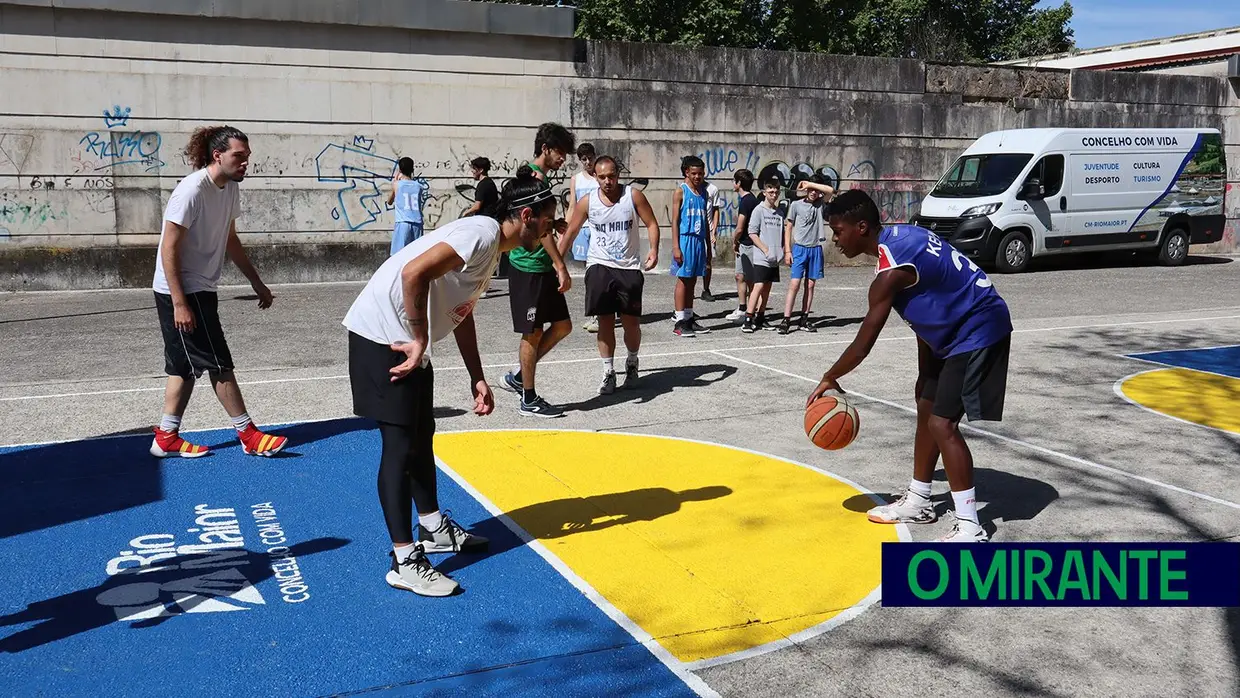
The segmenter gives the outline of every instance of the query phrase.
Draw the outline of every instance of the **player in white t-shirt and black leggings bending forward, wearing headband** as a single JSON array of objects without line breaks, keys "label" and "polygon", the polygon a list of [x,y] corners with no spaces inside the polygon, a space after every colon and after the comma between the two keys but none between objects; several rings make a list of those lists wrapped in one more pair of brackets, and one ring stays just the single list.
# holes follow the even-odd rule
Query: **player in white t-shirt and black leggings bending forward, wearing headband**
[{"label": "player in white t-shirt and black leggings bending forward, wearing headband", "polygon": [[472,552],[489,543],[439,508],[430,356],[435,342],[454,335],[469,371],[474,413],[495,409],[482,376],[474,305],[500,254],[537,244],[554,218],[551,188],[522,166],[491,211],[443,226],[388,258],[345,315],[353,413],[378,422],[383,440],[379,507],[393,549],[387,583],[397,589],[448,596],[458,584],[435,570],[427,553]]}]

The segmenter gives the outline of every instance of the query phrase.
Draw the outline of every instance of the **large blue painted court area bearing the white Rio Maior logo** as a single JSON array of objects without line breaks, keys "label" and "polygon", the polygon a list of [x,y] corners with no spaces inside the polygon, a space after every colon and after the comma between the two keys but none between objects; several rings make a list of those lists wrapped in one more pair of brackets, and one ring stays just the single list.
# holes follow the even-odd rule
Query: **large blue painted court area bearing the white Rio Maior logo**
[{"label": "large blue painted court area bearing the white Rio Maior logo", "polygon": [[693,694],[446,476],[491,552],[435,555],[458,596],[389,588],[378,434],[273,433],[290,453],[227,430],[197,460],[151,457],[148,434],[0,449],[5,692]]}]

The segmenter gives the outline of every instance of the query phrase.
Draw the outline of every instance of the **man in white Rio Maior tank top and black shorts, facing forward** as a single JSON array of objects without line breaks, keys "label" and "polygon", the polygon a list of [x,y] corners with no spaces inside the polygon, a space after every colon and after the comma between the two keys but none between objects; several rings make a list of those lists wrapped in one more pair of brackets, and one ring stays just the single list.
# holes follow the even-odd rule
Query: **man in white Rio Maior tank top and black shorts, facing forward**
[{"label": "man in white Rio Maior tank top and black shorts, facing forward", "polygon": [[[624,387],[637,381],[637,350],[641,347],[641,290],[649,272],[658,263],[658,221],[646,195],[620,183],[616,161],[608,155],[594,161],[594,179],[599,188],[573,207],[568,232],[559,241],[563,254],[573,245],[582,228],[589,223],[590,244],[585,259],[585,314],[599,319],[599,356],[603,357],[603,384],[599,394],[616,389],[615,320],[624,326],[625,360]],[[637,218],[650,236],[646,262],[640,262],[641,236]]]}]

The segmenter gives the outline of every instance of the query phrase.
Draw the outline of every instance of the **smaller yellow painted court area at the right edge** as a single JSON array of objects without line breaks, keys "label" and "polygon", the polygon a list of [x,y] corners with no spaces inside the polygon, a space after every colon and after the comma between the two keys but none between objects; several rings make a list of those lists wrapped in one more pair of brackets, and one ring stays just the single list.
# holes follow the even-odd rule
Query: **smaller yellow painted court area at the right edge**
[{"label": "smaller yellow painted court area at the right edge", "polygon": [[1157,413],[1240,434],[1240,379],[1190,368],[1138,373],[1120,384],[1123,397]]}]

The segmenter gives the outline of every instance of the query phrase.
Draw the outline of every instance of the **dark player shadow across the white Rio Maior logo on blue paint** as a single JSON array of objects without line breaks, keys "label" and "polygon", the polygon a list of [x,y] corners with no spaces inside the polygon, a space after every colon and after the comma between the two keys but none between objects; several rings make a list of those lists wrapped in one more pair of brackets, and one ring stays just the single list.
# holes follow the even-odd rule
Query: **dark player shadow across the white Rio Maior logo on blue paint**
[{"label": "dark player shadow across the white Rio Maior logo on blue paint", "polygon": [[[301,558],[348,543],[347,538],[315,538],[290,546],[288,554],[298,558],[300,565]],[[246,548],[150,559],[148,572],[122,572],[91,589],[35,601],[24,611],[0,616],[0,626],[37,624],[0,638],[0,650],[22,652],[113,622],[145,629],[187,614],[255,610],[278,604],[280,590],[275,585],[262,590],[257,586],[275,575],[272,564],[280,562],[285,560]]]}]

